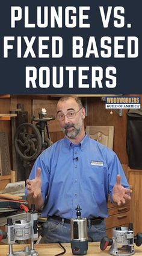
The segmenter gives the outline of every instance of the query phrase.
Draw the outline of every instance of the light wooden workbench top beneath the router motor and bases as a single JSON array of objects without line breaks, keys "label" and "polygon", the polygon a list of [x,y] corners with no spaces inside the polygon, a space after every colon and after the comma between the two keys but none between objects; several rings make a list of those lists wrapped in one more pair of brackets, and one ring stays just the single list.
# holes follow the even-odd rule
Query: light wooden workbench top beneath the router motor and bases
[{"label": "light wooden workbench top beneath the router motor and bases", "polygon": [[[65,256],[72,256],[72,251],[70,248],[70,243],[63,243],[62,244],[64,248],[66,248],[66,253],[64,254]],[[23,248],[26,245],[14,245],[13,246],[13,251],[20,251],[23,250]],[[88,256],[105,256],[105,255],[110,255],[109,254],[109,249],[106,248],[105,251],[100,251],[100,243],[96,242],[90,242],[88,243]],[[59,254],[60,252],[63,252],[63,249],[58,245],[58,243],[40,243],[38,245],[35,245],[35,249],[37,252],[39,252],[39,256],[54,256],[56,254]],[[0,245],[0,255],[1,256],[6,256],[8,252],[8,245]],[[135,255],[142,255],[142,246],[137,247],[135,246]]]}]

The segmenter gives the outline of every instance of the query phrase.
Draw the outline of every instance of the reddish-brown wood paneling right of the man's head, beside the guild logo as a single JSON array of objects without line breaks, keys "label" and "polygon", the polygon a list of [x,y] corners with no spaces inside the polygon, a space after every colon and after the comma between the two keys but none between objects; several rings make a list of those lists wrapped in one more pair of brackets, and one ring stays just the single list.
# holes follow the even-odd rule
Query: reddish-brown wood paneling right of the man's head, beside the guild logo
[{"label": "reddish-brown wood paneling right of the man's head, beside the guild logo", "polygon": [[119,117],[116,111],[113,110],[113,115],[110,114],[110,109],[105,109],[105,101],[100,98],[87,98],[87,117],[85,125],[87,126],[114,126],[114,152],[119,156],[122,164],[128,163],[126,154],[126,112],[123,109],[123,116]]}]

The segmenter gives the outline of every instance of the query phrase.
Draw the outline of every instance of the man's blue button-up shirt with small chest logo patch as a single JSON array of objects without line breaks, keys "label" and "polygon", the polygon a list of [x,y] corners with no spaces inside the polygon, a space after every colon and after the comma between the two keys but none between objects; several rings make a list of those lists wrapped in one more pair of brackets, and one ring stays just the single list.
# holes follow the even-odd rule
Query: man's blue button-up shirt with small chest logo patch
[{"label": "man's blue button-up shirt with small chest logo patch", "polygon": [[112,197],[117,174],[129,187],[116,153],[88,135],[78,145],[65,137],[44,150],[29,179],[36,177],[38,167],[42,168],[43,217],[71,219],[78,204],[82,217],[108,217],[108,194]]}]

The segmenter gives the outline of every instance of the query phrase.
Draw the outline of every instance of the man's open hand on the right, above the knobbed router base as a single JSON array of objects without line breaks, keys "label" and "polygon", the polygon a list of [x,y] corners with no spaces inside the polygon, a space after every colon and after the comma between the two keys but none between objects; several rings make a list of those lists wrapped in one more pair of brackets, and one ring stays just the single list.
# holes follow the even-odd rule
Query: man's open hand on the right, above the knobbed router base
[{"label": "man's open hand on the right, above the knobbed router base", "polygon": [[131,200],[131,193],[132,190],[129,188],[125,188],[121,184],[121,176],[117,175],[116,185],[113,188],[113,202],[117,203],[120,206],[122,203],[126,203],[127,200]]}]

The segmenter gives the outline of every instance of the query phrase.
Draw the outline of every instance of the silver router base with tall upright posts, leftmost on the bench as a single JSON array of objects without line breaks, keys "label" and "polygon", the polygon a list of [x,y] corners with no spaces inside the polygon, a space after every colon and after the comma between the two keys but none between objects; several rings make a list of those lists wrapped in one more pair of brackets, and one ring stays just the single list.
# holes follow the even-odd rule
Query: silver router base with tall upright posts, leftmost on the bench
[{"label": "silver router base with tall upright posts, leftmost on the bench", "polygon": [[[34,241],[39,237],[38,234],[38,215],[35,210],[35,205],[31,205],[31,211],[27,213],[27,220],[19,220],[13,223],[11,218],[7,219],[5,225],[5,232],[0,231],[0,240],[5,239],[4,242],[9,245],[8,256],[38,256],[38,252],[34,249]],[[23,241],[31,239],[31,246],[26,246],[23,251],[13,252],[13,244],[16,241]]]}]

